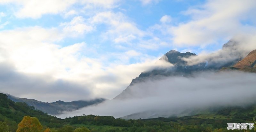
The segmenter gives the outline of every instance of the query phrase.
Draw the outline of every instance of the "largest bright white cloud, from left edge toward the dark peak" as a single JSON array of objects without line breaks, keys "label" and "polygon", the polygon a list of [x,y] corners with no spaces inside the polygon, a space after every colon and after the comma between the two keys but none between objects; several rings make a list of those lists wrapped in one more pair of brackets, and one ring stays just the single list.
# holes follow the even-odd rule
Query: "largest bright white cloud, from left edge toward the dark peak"
[{"label": "largest bright white cloud, from left edge toward the dark peak", "polygon": [[[132,78],[142,71],[158,66],[155,64],[158,58],[143,55],[136,50],[97,53],[97,58],[88,58],[83,55],[83,52],[90,52],[93,47],[89,47],[84,42],[64,47],[56,44],[63,40],[63,37],[65,35],[56,28],[45,29],[38,26],[1,31],[0,64],[11,64],[13,69],[10,70],[26,76],[46,76],[41,82],[58,82],[58,80],[68,84],[72,82],[77,85],[74,90],[78,92],[85,90],[91,93],[88,97],[106,98],[115,97],[128,86]],[[136,58],[139,62],[127,63],[131,58]],[[117,61],[109,62],[109,59]],[[22,85],[25,88],[32,84],[28,82]],[[14,91],[19,91],[14,92],[15,96],[28,96],[49,101],[48,97],[37,97],[36,93],[31,92],[28,95],[20,87],[13,86],[8,90],[9,85],[5,84],[5,86],[4,92],[12,94]],[[45,94],[51,94],[51,89],[60,90],[61,88],[54,88],[51,85],[48,93],[45,91]],[[64,95],[63,93],[59,96],[65,100]]]}]

